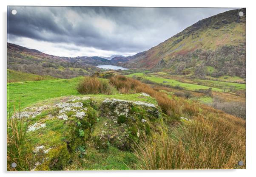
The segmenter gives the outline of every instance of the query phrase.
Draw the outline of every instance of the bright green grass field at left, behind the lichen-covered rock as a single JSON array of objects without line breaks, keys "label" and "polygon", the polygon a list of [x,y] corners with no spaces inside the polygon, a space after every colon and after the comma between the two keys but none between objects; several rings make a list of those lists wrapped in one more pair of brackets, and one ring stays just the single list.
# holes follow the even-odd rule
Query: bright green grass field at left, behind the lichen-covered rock
[{"label": "bright green grass field at left, behind the lichen-covered rock", "polygon": [[75,85],[82,77],[43,81],[7,83],[7,106],[21,109],[37,101],[60,96],[78,95]]}]

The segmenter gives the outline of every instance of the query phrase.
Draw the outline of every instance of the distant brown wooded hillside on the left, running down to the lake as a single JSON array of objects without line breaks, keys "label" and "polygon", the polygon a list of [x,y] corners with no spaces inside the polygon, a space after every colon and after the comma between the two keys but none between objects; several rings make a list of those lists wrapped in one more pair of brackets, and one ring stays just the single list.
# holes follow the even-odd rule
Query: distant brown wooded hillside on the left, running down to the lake
[{"label": "distant brown wooded hillside on the left, running down to the lake", "polygon": [[84,76],[99,71],[97,65],[110,62],[100,57],[60,57],[34,49],[7,43],[7,68],[36,75],[49,75],[58,78]]}]

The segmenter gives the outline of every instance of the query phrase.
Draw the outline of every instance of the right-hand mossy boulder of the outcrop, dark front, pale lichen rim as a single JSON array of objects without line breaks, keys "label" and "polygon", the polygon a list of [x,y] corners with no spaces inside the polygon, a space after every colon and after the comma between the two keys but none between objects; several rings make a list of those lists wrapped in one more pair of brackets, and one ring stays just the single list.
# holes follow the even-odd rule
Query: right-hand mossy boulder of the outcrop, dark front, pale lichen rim
[{"label": "right-hand mossy boulder of the outcrop, dark front, pale lichen rim", "polygon": [[161,117],[161,111],[154,104],[108,98],[102,101],[100,114],[102,120],[92,133],[97,149],[112,145],[129,151],[139,139],[150,135]]}]

